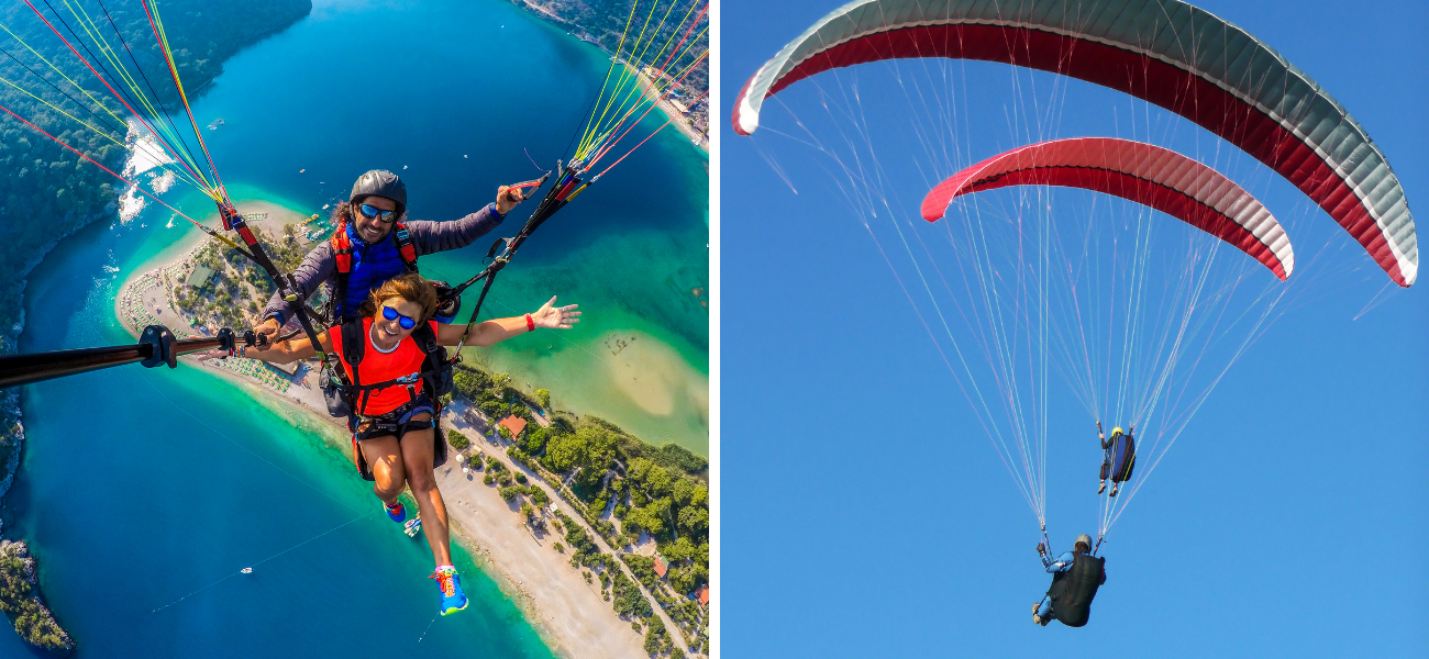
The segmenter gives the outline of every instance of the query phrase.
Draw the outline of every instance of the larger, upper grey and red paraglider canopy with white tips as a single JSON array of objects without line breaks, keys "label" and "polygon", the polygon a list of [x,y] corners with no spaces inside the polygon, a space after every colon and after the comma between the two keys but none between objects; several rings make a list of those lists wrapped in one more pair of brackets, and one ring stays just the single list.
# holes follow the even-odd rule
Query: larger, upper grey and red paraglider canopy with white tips
[{"label": "larger, upper grey and red paraglider canopy with white tips", "polygon": [[907,57],[1037,68],[1165,107],[1273,168],[1396,284],[1415,282],[1413,215],[1365,128],[1268,44],[1180,0],[853,0],[749,78],[735,131],[752,134],[765,98],[799,80]]}]

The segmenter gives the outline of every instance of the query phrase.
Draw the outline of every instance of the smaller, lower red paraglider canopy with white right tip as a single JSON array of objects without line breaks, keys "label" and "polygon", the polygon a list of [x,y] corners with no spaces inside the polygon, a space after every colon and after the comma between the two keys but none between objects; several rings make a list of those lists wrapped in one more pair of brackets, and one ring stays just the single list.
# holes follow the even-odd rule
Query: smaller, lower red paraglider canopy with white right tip
[{"label": "smaller, lower red paraglider canopy with white right tip", "polygon": [[1280,280],[1295,270],[1285,228],[1250,193],[1176,151],[1130,140],[1053,140],[993,155],[929,191],[923,197],[923,218],[937,221],[956,197],[1009,185],[1060,185],[1113,194],[1235,245]]}]

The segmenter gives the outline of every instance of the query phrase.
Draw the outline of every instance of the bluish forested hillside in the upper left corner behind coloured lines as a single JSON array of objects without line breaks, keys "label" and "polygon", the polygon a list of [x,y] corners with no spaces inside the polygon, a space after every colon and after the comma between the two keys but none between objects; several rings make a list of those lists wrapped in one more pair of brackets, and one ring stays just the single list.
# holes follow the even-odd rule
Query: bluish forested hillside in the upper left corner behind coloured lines
[{"label": "bluish forested hillside in the upper left corner behind coloured lines", "polygon": [[[61,17],[74,27],[74,17],[63,3],[50,3],[61,11]],[[44,7],[36,3],[37,7]],[[124,36],[134,58],[140,63],[149,81],[153,83],[157,98],[163,103],[177,101],[169,71],[154,41],[153,29],[137,0],[106,3],[114,24]],[[93,7],[90,7],[93,9]],[[179,64],[179,76],[190,94],[190,101],[200,94],[213,78],[223,73],[223,61],[239,50],[267,34],[277,33],[312,11],[310,0],[167,0],[160,4],[161,19]],[[47,10],[46,10],[47,11]],[[73,39],[66,26],[54,14],[46,13],[80,53],[84,48]],[[90,14],[104,30],[111,30],[103,14]],[[80,63],[39,17],[24,3],[6,3],[0,7],[0,21],[36,48],[47,60],[64,70],[76,83],[84,86],[96,98],[120,117],[123,107],[113,101],[109,91]],[[113,31],[106,36],[113,37]],[[116,44],[116,47],[119,47]],[[46,67],[39,57],[29,53],[14,39],[0,34],[0,77],[11,80],[33,94],[83,117],[91,123],[100,121],[90,113],[97,113],[110,123],[113,120],[99,107],[80,107],[64,94],[84,98],[61,77]],[[19,58],[19,61],[16,60]],[[90,58],[86,54],[86,58]],[[23,64],[21,64],[23,63]],[[29,67],[30,70],[27,70]],[[31,70],[34,73],[31,73]],[[40,80],[36,74],[44,74]],[[54,87],[50,87],[50,84]],[[59,90],[56,90],[56,87]],[[61,93],[63,91],[63,93]],[[84,101],[89,104],[89,101]],[[126,151],[119,145],[79,127],[44,104],[9,87],[0,86],[0,106],[36,123],[67,144],[84,151],[106,167],[119,171]],[[123,183],[80,160],[73,153],[54,144],[47,137],[24,126],[14,117],[0,113],[0,335],[13,335],[20,320],[20,291],[23,278],[39,258],[63,235],[99,217],[107,215],[106,207],[119,195]],[[63,123],[61,123],[63,121]],[[121,126],[114,127],[123,130]],[[11,347],[0,338],[0,351]]]}]

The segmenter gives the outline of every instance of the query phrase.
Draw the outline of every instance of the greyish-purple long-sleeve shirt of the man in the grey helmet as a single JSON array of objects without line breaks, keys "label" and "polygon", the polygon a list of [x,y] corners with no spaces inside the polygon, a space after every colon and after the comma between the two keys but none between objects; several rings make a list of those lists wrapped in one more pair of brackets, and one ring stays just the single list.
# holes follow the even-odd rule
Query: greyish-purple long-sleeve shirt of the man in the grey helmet
[{"label": "greyish-purple long-sleeve shirt of the man in the grey helmet", "polygon": [[[466,245],[470,245],[477,238],[486,235],[499,224],[502,224],[502,220],[504,220],[504,215],[496,213],[496,204],[487,204],[484,208],[450,223],[412,220],[403,224],[407,225],[407,231],[412,235],[412,245],[416,248],[416,252],[420,257],[423,254],[459,250]],[[357,245],[354,247],[359,247],[363,251],[363,254],[366,254],[369,250],[373,248],[382,251],[390,251],[392,255],[396,254],[396,247],[392,242],[390,233],[387,238],[383,240],[380,247],[367,245],[360,240],[356,242]],[[359,255],[357,258],[362,257]],[[393,261],[393,258],[387,258],[387,261]],[[393,262],[396,265],[393,265],[392,268],[386,268],[390,270],[390,272],[373,272],[373,274],[387,275],[389,278],[402,274],[404,271],[404,267],[402,265],[400,260],[396,260]],[[297,284],[297,292],[304,300],[312,297],[319,287],[323,285],[330,287],[332,282],[336,280],[336,277],[337,277],[337,260],[334,258],[333,254],[332,241],[326,240],[313,247],[313,251],[307,252],[307,257],[303,258],[303,264],[293,271],[293,281],[294,284]],[[382,278],[382,281],[376,281],[376,285],[382,285],[383,281],[386,281],[386,278]],[[360,300],[360,297],[366,295],[366,292],[363,291],[364,285],[366,288],[374,288],[370,284],[373,284],[373,281],[360,281],[357,282],[357,285],[353,285],[353,282],[350,281],[349,297],[357,297]],[[327,292],[329,295],[333,294],[330,288]],[[264,320],[277,318],[277,322],[282,325],[293,318],[293,302],[283,300],[279,295],[279,292],[274,291],[273,297],[269,298],[267,308],[263,310],[262,317]]]}]

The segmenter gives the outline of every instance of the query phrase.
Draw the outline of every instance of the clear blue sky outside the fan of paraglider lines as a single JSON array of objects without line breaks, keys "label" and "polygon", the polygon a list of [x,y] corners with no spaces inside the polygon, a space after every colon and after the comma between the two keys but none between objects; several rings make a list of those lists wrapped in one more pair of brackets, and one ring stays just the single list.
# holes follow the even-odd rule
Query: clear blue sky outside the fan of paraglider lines
[{"label": "clear blue sky outside the fan of paraglider lines", "polygon": [[[816,158],[729,128],[727,104],[749,74],[836,6],[720,6],[722,652],[1422,656],[1426,284],[1388,291],[1362,314],[1385,290],[1383,274],[1295,188],[1225,153],[1212,160],[1293,230],[1305,284],[1292,278],[1293,304],[1115,526],[1090,625],[1030,623],[1047,586],[1035,522],[879,244],[827,194]],[[1385,151],[1410,208],[1429,204],[1429,7],[1200,6],[1325,86]],[[880,84],[870,73],[859,74],[869,91]],[[995,66],[972,74],[1006,77]],[[790,106],[797,93],[787,91]],[[1092,113],[1139,107],[1090,86],[1067,93],[1060,137],[1106,134]],[[805,93],[803,107],[813,98]],[[869,117],[880,120],[902,118]],[[1216,147],[1186,121],[1172,127],[1177,145]],[[986,133],[969,133],[976,160],[1015,145],[1005,126]],[[910,181],[896,193],[916,203],[925,190]],[[1066,429],[1050,432],[1047,468],[1057,551],[1095,532],[1085,526],[1095,523],[1099,461],[1085,412],[1065,417]]]}]

